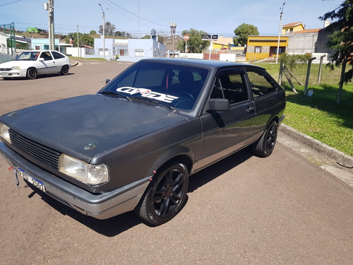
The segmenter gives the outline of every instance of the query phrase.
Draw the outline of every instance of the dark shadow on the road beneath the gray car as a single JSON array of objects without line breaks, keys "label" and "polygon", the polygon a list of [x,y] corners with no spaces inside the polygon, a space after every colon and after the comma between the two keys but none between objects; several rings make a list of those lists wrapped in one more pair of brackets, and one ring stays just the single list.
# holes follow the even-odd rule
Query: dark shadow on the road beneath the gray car
[{"label": "dark shadow on the road beneath the gray car", "polygon": [[[203,187],[203,185],[207,184],[208,182],[212,182],[213,179],[216,179],[228,170],[231,170],[233,167],[237,167],[237,165],[244,163],[244,161],[251,158],[251,156],[253,156],[251,149],[245,148],[244,150],[239,151],[234,155],[230,155],[228,158],[220,160],[214,165],[201,170],[195,175],[192,175],[192,177],[189,179],[188,193],[194,192],[196,189]],[[56,201],[32,185],[28,185],[28,187],[33,190],[32,194],[28,196],[29,198],[37,193],[40,195],[43,201],[56,209],[56,211],[59,211],[62,215],[70,216],[88,228],[95,230],[95,232],[101,235],[105,235],[106,237],[114,237],[119,235],[121,232],[133,228],[135,225],[143,223],[142,220],[140,220],[133,212],[123,213],[119,216],[115,216],[107,220],[98,220],[90,216],[85,216],[82,213],[73,210],[73,208],[61,204],[59,201]],[[186,201],[187,200],[188,197],[186,197]]]}]

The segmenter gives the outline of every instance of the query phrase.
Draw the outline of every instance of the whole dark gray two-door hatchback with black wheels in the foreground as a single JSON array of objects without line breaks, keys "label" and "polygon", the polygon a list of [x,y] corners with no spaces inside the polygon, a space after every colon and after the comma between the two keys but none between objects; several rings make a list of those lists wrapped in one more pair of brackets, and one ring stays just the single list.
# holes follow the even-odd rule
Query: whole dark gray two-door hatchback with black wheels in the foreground
[{"label": "whole dark gray two-door hatchback with black wheels in the foreground", "polygon": [[285,91],[249,64],[145,59],[95,95],[0,117],[0,152],[42,192],[99,219],[149,225],[182,208],[189,176],[251,146],[273,152]]}]

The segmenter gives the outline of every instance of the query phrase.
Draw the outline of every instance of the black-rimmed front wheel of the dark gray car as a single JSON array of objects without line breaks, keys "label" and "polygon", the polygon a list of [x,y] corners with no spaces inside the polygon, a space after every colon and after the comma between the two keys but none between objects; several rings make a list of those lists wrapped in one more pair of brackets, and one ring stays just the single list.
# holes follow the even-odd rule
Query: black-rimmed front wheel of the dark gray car
[{"label": "black-rimmed front wheel of the dark gray car", "polygon": [[185,165],[172,163],[157,172],[140,204],[137,215],[149,225],[162,225],[184,206],[189,173]]}]

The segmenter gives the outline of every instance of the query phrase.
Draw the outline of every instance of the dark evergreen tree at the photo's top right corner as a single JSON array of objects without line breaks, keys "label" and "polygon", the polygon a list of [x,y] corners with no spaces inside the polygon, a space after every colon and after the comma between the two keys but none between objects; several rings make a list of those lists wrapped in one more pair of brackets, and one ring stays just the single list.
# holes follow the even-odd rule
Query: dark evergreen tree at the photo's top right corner
[{"label": "dark evergreen tree at the photo's top right corner", "polygon": [[342,96],[343,83],[352,81],[353,77],[353,68],[345,72],[346,65],[353,64],[353,0],[343,1],[335,10],[325,13],[319,19],[333,21],[326,28],[326,30],[333,33],[330,35],[327,45],[335,50],[330,57],[328,66],[331,69],[334,69],[335,66],[342,66],[338,104]]}]

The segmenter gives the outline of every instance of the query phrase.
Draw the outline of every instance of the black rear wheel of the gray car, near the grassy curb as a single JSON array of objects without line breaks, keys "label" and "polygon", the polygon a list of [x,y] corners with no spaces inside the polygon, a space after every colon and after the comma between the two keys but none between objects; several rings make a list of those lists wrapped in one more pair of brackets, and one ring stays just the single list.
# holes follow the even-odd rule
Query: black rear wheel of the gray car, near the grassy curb
[{"label": "black rear wheel of the gray car, near the grassy curb", "polygon": [[262,158],[268,157],[268,155],[270,155],[275,148],[276,141],[277,122],[273,121],[267,126],[261,138],[253,143],[253,153]]}]

